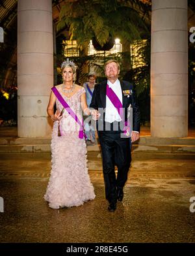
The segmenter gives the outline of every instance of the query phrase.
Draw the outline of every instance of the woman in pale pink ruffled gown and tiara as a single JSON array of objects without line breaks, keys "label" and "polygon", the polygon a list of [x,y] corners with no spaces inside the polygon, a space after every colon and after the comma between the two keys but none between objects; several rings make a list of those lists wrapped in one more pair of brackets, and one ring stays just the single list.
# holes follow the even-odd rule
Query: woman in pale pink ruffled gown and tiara
[{"label": "woman in pale pink ruffled gown and tiara", "polygon": [[[86,105],[85,89],[73,82],[76,71],[74,63],[67,59],[61,68],[63,84],[56,86],[57,91],[81,123],[82,110],[85,114],[93,114],[95,118],[97,112],[92,112]],[[54,114],[55,103],[57,111]],[[79,138],[81,125],[64,109],[53,91],[47,113],[54,123],[51,138],[51,176],[44,199],[53,209],[80,206],[96,197],[88,175],[85,138]]]}]

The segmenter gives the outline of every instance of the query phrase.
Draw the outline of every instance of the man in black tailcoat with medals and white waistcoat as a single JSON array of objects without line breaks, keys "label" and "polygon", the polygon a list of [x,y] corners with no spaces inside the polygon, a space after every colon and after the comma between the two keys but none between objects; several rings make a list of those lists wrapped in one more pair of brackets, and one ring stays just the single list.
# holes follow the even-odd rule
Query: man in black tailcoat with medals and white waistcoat
[{"label": "man in black tailcoat with medals and white waistcoat", "polygon": [[116,210],[117,200],[123,199],[123,187],[131,164],[131,145],[138,140],[140,132],[140,111],[135,91],[129,82],[118,80],[119,73],[117,61],[110,59],[105,63],[107,80],[95,86],[90,104],[90,108],[99,112],[97,130],[110,212]]}]

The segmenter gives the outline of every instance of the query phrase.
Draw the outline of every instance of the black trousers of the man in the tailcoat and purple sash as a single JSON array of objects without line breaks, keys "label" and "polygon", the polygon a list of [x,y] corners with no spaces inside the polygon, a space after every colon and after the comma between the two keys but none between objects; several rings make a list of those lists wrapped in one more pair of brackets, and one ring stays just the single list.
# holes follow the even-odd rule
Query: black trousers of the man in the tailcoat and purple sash
[{"label": "black trousers of the man in the tailcoat and purple sash", "polygon": [[[131,164],[131,138],[121,138],[120,132],[99,131],[99,142],[103,159],[105,196],[109,202],[116,203],[117,188],[122,189],[127,181]],[[117,177],[114,167],[118,168]]]}]

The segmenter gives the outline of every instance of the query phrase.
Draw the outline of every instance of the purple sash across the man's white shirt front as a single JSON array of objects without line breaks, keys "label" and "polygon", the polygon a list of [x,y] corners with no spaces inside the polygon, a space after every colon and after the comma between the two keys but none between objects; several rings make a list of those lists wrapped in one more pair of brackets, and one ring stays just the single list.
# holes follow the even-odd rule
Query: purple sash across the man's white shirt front
[{"label": "purple sash across the man's white shirt front", "polygon": [[107,84],[107,96],[109,97],[111,103],[114,105],[116,110],[118,111],[118,114],[120,115],[122,121],[125,123],[125,127],[123,127],[123,133],[127,136],[129,136],[130,131],[130,125],[129,121],[125,121],[125,118],[123,117],[123,104],[121,103],[120,99],[118,99],[118,96],[112,88],[109,88],[109,85]]}]

